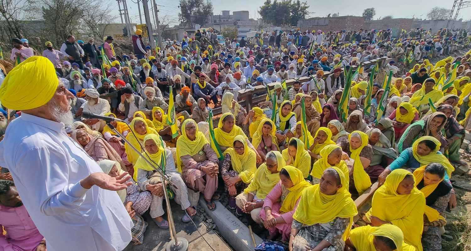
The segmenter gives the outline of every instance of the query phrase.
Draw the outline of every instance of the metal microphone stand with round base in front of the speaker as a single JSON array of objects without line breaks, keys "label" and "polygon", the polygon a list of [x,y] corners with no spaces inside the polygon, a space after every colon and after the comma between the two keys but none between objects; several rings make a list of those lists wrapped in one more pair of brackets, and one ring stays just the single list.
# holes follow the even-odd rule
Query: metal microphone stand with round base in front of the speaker
[{"label": "metal microphone stand with round base in front of the speaker", "polygon": [[[175,189],[177,187],[171,182],[171,180],[165,176],[162,172],[161,167],[157,165],[157,163],[150,162],[136,147],[134,147],[110,122],[106,122],[106,125],[110,127],[119,137],[121,137],[124,142],[128,143],[128,145],[139,155],[141,156],[147,164],[149,164],[156,172],[160,174],[160,179],[163,184],[163,194],[165,196],[165,204],[167,205],[167,214],[168,214],[168,221],[169,221],[169,228],[170,228],[170,242],[167,244],[166,251],[187,251],[188,250],[188,240],[183,237],[177,237],[177,232],[175,231],[175,223],[173,222],[172,210],[170,207],[170,199],[167,194],[167,187],[165,186],[165,182],[169,183]],[[155,167],[157,166],[157,167]]]}]

